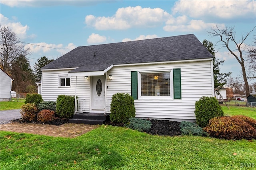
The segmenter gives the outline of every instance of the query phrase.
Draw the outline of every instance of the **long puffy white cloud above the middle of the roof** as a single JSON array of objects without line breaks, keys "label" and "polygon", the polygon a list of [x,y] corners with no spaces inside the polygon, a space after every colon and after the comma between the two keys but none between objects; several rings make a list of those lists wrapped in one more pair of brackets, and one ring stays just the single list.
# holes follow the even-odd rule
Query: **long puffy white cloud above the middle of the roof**
[{"label": "long puffy white cloud above the middle of the roof", "polygon": [[161,8],[142,8],[141,6],[119,8],[111,17],[88,15],[85,23],[98,30],[128,29],[130,27],[155,27],[167,21],[170,14]]}]

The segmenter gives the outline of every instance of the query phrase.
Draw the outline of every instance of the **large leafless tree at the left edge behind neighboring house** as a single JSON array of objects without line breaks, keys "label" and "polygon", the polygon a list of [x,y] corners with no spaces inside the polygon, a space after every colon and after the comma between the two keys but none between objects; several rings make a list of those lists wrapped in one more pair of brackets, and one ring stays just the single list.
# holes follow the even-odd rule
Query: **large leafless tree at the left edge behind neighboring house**
[{"label": "large leafless tree at the left edge behind neighboring house", "polygon": [[1,68],[10,72],[12,62],[20,55],[29,55],[29,48],[24,48],[24,43],[21,43],[16,36],[16,33],[7,26],[0,25],[0,64]]}]

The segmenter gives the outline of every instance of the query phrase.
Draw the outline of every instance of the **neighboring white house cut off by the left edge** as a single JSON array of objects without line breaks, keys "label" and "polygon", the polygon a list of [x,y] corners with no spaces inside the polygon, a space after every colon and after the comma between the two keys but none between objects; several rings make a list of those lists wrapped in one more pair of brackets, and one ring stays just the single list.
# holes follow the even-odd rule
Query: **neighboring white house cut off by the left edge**
[{"label": "neighboring white house cut off by the left edge", "polygon": [[9,101],[11,99],[12,78],[0,69],[0,101]]}]

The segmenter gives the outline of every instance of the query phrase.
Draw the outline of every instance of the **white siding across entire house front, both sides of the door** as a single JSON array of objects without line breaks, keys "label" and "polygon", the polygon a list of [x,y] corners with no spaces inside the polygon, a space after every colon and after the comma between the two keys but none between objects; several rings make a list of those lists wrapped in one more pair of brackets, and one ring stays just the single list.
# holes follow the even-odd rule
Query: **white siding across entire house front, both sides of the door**
[{"label": "white siding across entire house front, both sides of the door", "polygon": [[[150,119],[196,119],[194,115],[195,102],[202,96],[214,96],[212,61],[151,64],[137,66],[114,66],[109,70],[106,79],[106,99],[111,99],[116,93],[131,94],[131,71],[157,72],[170,71],[174,68],[181,70],[181,100],[173,98],[134,100],[136,117]],[[86,99],[86,109],[90,109],[90,79],[84,76],[70,77],[70,87],[59,87],[59,76],[66,76],[69,70],[42,71],[42,98],[44,101],[56,101],[58,95],[75,95]],[[109,80],[108,76],[112,75]],[[138,80],[138,84],[140,80]],[[170,77],[173,94],[172,76]]]}]

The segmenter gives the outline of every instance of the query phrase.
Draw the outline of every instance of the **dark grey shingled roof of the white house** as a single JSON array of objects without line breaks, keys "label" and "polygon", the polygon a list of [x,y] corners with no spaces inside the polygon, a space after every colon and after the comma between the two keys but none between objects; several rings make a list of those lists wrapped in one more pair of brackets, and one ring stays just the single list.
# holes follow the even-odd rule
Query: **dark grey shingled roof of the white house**
[{"label": "dark grey shingled roof of the white house", "polygon": [[[94,56],[94,52],[95,55]],[[112,64],[210,59],[212,54],[194,34],[77,47],[42,69],[74,68],[70,72],[102,71]]]}]

